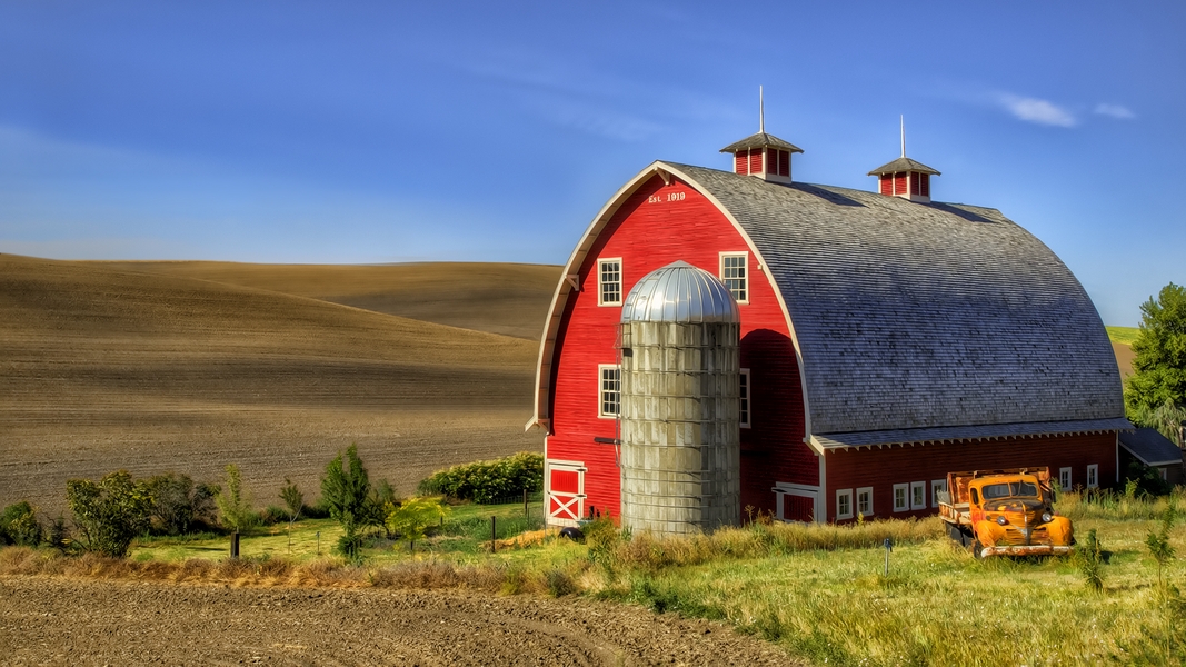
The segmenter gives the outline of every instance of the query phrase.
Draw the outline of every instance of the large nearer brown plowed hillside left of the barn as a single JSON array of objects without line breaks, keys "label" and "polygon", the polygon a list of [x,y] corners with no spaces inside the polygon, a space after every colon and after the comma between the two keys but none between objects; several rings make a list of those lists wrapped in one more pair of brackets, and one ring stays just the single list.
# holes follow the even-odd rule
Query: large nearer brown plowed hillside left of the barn
[{"label": "large nearer brown plowed hillside left of the barn", "polygon": [[338,449],[408,491],[449,463],[537,450],[536,343],[100,262],[0,256],[0,504],[63,502],[126,468],[213,479],[260,504],[315,497]]}]

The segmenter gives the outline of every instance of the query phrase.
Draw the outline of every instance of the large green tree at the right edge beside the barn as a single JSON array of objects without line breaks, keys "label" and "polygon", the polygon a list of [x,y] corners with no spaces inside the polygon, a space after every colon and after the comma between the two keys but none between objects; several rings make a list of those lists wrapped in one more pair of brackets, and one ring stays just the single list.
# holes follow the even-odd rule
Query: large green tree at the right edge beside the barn
[{"label": "large green tree at the right edge beside the barn", "polygon": [[1124,390],[1129,419],[1177,442],[1186,418],[1186,288],[1171,282],[1141,305],[1133,352]]}]

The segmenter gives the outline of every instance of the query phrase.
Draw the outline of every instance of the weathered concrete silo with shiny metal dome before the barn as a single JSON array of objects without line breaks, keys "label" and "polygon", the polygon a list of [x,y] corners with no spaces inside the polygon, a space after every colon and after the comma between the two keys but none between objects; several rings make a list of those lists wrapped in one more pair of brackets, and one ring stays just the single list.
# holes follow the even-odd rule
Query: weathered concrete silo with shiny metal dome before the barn
[{"label": "weathered concrete silo with shiny metal dome before the barn", "polygon": [[740,315],[713,274],[677,261],[621,309],[621,525],[656,534],[735,526]]}]

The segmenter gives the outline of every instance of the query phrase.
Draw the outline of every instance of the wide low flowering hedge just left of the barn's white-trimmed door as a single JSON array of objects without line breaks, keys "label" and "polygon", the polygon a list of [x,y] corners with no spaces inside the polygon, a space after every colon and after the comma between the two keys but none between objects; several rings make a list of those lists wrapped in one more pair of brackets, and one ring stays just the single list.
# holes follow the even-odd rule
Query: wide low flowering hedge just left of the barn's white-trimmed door
[{"label": "wide low flowering hedge just left of the barn's white-trimmed door", "polygon": [[421,495],[444,495],[479,503],[543,488],[543,455],[518,452],[496,460],[477,460],[438,470],[420,482]]}]

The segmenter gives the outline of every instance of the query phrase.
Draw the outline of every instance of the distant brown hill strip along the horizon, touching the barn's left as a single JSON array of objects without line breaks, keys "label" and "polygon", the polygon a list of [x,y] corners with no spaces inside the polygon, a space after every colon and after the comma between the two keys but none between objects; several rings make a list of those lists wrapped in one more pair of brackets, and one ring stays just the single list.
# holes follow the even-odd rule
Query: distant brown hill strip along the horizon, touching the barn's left
[{"label": "distant brown hill strip along the horizon, touching the barn's left", "polygon": [[517,263],[262,265],[95,262],[122,271],[212,280],[538,341],[559,266]]}]

